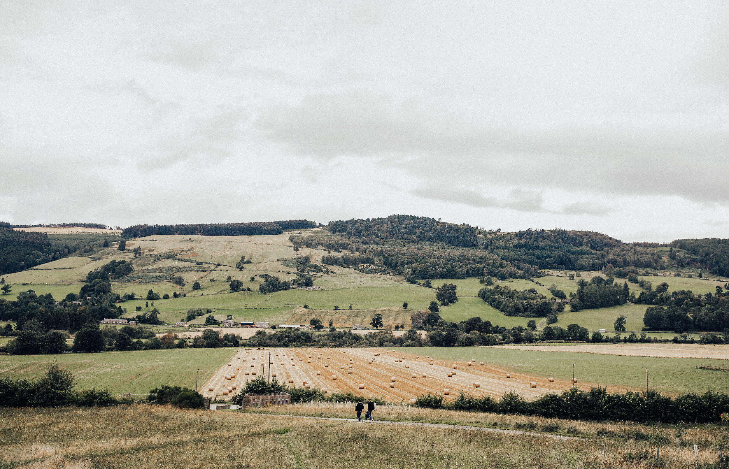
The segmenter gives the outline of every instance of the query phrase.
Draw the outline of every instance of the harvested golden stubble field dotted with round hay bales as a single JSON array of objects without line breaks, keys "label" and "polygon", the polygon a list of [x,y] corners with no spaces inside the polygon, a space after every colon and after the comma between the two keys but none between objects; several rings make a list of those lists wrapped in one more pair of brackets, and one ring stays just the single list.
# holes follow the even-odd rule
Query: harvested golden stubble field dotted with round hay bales
[{"label": "harvested golden stubble field dotted with round hay bales", "polygon": [[[427,349],[421,350],[427,353]],[[352,390],[355,394],[382,395],[387,401],[394,402],[403,399],[407,401],[422,394],[443,392],[444,389],[450,390],[450,398],[455,398],[460,390],[466,390],[472,395],[503,395],[509,390],[516,390],[524,397],[531,398],[547,390],[561,391],[570,386],[569,379],[555,378],[554,382],[547,382],[546,376],[538,377],[515,372],[510,372],[511,377],[507,378],[506,370],[488,363],[482,366],[476,362],[468,366],[464,361],[436,359],[431,366],[426,355],[419,355],[416,358],[414,354],[395,353],[380,348],[276,347],[267,350],[238,350],[231,359],[231,366],[222,366],[216,371],[200,392],[208,397],[222,395],[226,385],[229,387],[236,385],[240,390],[241,385],[248,379],[254,378],[252,371],[256,371],[257,376],[262,374],[261,362],[268,361],[268,352],[273,364],[265,363],[267,377],[270,366],[271,377],[276,373],[279,381],[286,384],[291,378],[294,380],[292,385],[297,387],[302,386],[303,382],[308,382],[312,386],[326,388],[330,392]],[[375,353],[380,355],[375,356]],[[265,358],[262,359],[260,355],[265,355]],[[405,358],[399,361],[402,357]],[[350,358],[353,360],[352,373],[348,374]],[[368,363],[370,359],[374,359],[371,364]],[[307,363],[307,360],[311,360],[311,363]],[[453,368],[453,365],[458,368]],[[236,371],[236,366],[240,366],[241,369]],[[341,366],[344,366],[344,369]],[[448,372],[453,372],[454,369],[456,374],[448,377]],[[248,376],[245,374],[246,371],[249,372]],[[321,373],[319,376],[316,375],[317,371]],[[231,373],[235,373],[235,379],[226,380],[225,375]],[[337,379],[332,379],[333,374]],[[415,379],[412,377],[413,374],[416,375]],[[426,377],[423,377],[423,374],[426,374]],[[394,388],[389,387],[391,377],[396,379]],[[480,387],[474,387],[474,382],[478,382]],[[531,387],[530,382],[536,382],[537,387]],[[364,385],[364,390],[359,389],[359,384]],[[208,391],[208,386],[213,386],[214,390]],[[590,387],[590,383],[578,383],[578,386]]]}]

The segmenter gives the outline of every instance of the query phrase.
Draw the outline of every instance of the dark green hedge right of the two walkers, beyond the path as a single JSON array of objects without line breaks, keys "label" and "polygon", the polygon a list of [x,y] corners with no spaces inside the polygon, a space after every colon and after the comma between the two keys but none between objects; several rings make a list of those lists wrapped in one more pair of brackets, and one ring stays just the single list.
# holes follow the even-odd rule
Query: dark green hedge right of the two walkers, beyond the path
[{"label": "dark green hedge right of the two walkers, beyond the path", "polygon": [[[453,403],[441,394],[421,395],[416,406],[459,411],[523,414],[548,419],[613,420],[617,422],[719,422],[729,411],[729,395],[712,390],[703,395],[683,393],[675,398],[655,390],[608,393],[607,387],[582,390],[571,387],[561,393],[546,393],[527,401],[516,391],[496,400],[490,394],[474,396],[461,391]],[[668,441],[666,441],[667,443]]]}]

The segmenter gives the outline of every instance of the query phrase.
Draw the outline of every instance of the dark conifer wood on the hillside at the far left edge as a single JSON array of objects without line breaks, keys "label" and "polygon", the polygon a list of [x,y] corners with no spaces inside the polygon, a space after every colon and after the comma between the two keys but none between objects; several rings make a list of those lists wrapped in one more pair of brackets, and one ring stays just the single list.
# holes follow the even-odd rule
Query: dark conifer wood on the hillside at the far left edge
[{"label": "dark conifer wood on the hillside at the far left edge", "polygon": [[54,247],[45,233],[0,228],[0,275],[30,269],[63,256],[63,250]]}]

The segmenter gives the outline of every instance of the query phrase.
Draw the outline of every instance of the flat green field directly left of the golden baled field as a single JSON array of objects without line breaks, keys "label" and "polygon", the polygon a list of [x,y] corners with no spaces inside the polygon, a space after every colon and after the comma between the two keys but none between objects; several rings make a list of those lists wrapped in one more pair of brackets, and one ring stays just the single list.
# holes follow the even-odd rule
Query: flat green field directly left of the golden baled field
[{"label": "flat green field directly left of the golden baled field", "polygon": [[77,389],[95,387],[112,394],[145,394],[159,385],[195,387],[237,352],[236,348],[139,350],[137,352],[63,353],[60,355],[0,355],[0,377],[36,379],[57,362],[76,377]]}]

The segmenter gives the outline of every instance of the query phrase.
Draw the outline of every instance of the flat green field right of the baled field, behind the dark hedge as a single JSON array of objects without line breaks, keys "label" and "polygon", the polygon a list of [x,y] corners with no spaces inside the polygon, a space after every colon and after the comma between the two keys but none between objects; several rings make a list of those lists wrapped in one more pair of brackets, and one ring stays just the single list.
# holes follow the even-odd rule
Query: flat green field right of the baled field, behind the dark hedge
[{"label": "flat green field right of the baled field, behind the dark hedge", "polygon": [[[399,350],[413,353],[412,348]],[[669,394],[689,391],[703,393],[707,389],[725,393],[728,383],[726,373],[695,368],[697,365],[706,364],[706,359],[701,358],[627,357],[495,347],[427,347],[426,350],[433,358],[464,361],[474,358],[476,361],[502,366],[509,371],[532,374],[545,379],[572,378],[572,363],[574,363],[574,376],[580,382],[635,389],[645,389],[647,366],[650,388]],[[727,360],[712,360],[714,361]]]}]

